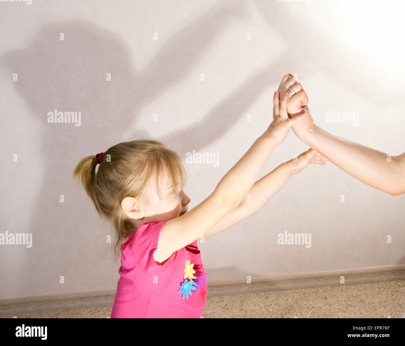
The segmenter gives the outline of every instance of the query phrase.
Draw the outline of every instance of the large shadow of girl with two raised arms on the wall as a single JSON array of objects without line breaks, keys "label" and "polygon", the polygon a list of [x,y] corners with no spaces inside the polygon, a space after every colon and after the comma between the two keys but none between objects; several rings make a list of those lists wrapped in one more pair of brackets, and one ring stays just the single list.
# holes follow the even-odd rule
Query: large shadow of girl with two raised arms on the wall
[{"label": "large shadow of girl with two raised arms on the wall", "polygon": [[[87,290],[87,283],[77,278],[89,272],[102,286],[104,269],[99,249],[111,233],[96,229],[98,215],[94,206],[87,195],[83,199],[83,191],[79,194],[73,188],[71,173],[83,156],[140,138],[157,139],[185,156],[190,148],[199,150],[226,133],[245,116],[245,110],[268,87],[269,80],[281,78],[277,71],[269,72],[271,66],[266,66],[215,105],[203,120],[162,138],[154,138],[148,128],[128,131],[142,107],[187,77],[202,53],[209,52],[210,45],[220,37],[221,30],[245,15],[243,2],[240,6],[234,1],[218,5],[176,32],[142,71],[136,71],[128,45],[122,39],[83,21],[48,23],[27,47],[1,56],[1,67],[10,75],[18,74],[15,88],[26,101],[30,116],[36,118],[35,132],[42,139],[36,152],[43,171],[36,173],[43,179],[39,184],[34,182],[40,194],[33,199],[35,207],[26,229],[33,234],[35,247],[20,258],[30,265],[21,267],[18,273],[19,277],[30,278],[34,264],[46,273],[41,278],[43,287],[32,280],[32,295]],[[61,32],[64,41],[59,39]],[[108,83],[107,73],[112,76]],[[80,111],[81,125],[49,124],[47,114],[54,109]],[[34,178],[31,174],[27,179]],[[64,194],[65,203],[60,203],[60,194]],[[61,233],[65,235],[61,237]],[[77,246],[78,243],[86,246]],[[67,269],[61,273],[62,262],[71,264],[70,273],[66,273]],[[55,280],[60,275],[65,276],[64,289]],[[30,285],[16,282],[15,278],[10,280],[16,294],[26,292]]]}]

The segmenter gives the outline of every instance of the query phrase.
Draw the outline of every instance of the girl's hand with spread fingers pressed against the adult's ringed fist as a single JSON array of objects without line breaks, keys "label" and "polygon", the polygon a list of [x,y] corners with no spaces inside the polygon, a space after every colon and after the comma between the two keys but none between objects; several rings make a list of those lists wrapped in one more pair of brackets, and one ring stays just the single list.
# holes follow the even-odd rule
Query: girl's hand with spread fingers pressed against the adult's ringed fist
[{"label": "girl's hand with spread fingers pressed against the adult's ringed fist", "polygon": [[276,91],[273,95],[273,121],[267,131],[275,139],[276,146],[283,143],[293,125],[305,119],[305,117],[309,117],[308,113],[305,112],[289,119],[287,113],[288,96],[289,94],[286,92],[280,102],[279,92]]}]

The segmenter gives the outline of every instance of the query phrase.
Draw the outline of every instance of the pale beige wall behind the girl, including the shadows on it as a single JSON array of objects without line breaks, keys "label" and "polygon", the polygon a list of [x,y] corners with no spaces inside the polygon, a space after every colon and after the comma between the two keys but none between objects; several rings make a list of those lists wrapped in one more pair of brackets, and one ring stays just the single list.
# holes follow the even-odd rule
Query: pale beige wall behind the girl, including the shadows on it
[{"label": "pale beige wall behind the girl, including the shadows on it", "polygon": [[[184,159],[218,152],[217,167],[186,164],[192,208],[266,130],[285,73],[298,74],[328,132],[404,152],[400,6],[0,2],[0,232],[32,233],[31,248],[0,246],[0,299],[115,288],[112,227],[70,177],[80,158],[138,138]],[[49,124],[54,109],[80,111],[80,126]],[[358,112],[358,126],[326,123],[332,110]],[[260,177],[307,149],[291,131]],[[198,243],[207,279],[404,264],[404,202],[331,162],[311,165],[254,216]],[[278,245],[284,231],[311,233],[311,247]]]}]

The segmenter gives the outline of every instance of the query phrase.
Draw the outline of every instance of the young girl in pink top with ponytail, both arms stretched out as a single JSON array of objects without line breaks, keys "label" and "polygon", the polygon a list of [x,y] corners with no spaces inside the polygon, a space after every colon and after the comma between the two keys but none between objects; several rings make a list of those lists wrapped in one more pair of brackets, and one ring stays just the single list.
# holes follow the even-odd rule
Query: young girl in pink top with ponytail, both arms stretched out
[{"label": "young girl in pink top with ponytail, both arms stretched out", "polygon": [[190,211],[181,157],[158,141],[119,143],[79,162],[73,175],[81,180],[100,216],[114,224],[115,249],[121,250],[121,277],[111,318],[199,318],[207,280],[197,240],[253,215],[308,164],[324,164],[311,149],[256,182],[291,126],[308,116],[289,119],[287,100],[288,93],[280,102],[275,92],[269,128],[207,199]]}]

